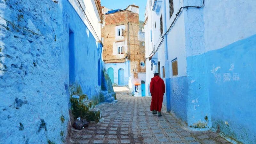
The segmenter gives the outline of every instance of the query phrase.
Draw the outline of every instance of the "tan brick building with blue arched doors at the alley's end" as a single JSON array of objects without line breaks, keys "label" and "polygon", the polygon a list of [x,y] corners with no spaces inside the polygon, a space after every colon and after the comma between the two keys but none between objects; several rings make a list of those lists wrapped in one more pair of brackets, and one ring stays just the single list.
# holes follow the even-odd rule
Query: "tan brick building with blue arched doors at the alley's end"
[{"label": "tan brick building with blue arched doors at the alley's end", "polygon": [[102,9],[102,57],[108,75],[113,85],[129,86],[135,96],[145,96],[145,88],[141,87],[145,86],[145,42],[139,27],[139,7]]}]

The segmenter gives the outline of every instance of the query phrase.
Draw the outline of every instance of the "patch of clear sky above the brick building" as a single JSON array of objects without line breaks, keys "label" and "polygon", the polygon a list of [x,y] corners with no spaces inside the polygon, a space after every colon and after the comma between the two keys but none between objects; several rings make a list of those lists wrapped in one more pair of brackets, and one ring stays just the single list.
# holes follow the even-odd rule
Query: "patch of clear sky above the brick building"
[{"label": "patch of clear sky above the brick building", "polygon": [[127,6],[131,4],[135,4],[139,6],[139,18],[140,20],[144,21],[144,12],[147,4],[147,0],[101,0],[101,6],[105,6],[108,9],[125,9]]}]

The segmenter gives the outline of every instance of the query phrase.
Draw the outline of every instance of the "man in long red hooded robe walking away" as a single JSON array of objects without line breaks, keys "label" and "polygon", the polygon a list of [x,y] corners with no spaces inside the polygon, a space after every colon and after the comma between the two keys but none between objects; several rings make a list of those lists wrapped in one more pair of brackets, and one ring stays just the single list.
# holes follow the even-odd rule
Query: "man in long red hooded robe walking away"
[{"label": "man in long red hooded robe walking away", "polygon": [[154,77],[151,78],[150,82],[150,93],[152,96],[151,99],[151,105],[150,105],[150,111],[153,111],[153,115],[156,115],[156,111],[158,112],[158,116],[161,115],[161,109],[164,99],[164,93],[165,93],[165,85],[164,80],[159,77],[158,73],[154,74]]}]

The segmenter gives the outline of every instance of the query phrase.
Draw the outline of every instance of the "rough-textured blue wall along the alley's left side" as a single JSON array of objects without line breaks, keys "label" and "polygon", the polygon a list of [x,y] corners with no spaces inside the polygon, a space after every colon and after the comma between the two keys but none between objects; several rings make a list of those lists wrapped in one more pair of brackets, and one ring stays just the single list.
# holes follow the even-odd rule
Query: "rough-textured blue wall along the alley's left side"
[{"label": "rough-textured blue wall along the alley's left side", "polygon": [[0,143],[63,143],[69,84],[98,99],[102,46],[68,0],[0,4]]}]

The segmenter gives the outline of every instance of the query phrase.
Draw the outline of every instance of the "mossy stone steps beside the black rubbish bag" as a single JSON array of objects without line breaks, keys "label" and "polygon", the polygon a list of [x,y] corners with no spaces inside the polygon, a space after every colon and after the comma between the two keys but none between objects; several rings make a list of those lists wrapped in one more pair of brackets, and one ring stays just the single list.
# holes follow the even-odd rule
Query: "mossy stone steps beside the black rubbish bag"
[{"label": "mossy stone steps beside the black rubbish bag", "polygon": [[102,114],[99,108],[95,108],[93,100],[89,100],[87,94],[71,94],[72,113],[75,118],[81,117],[86,119],[90,124],[100,121]]}]

